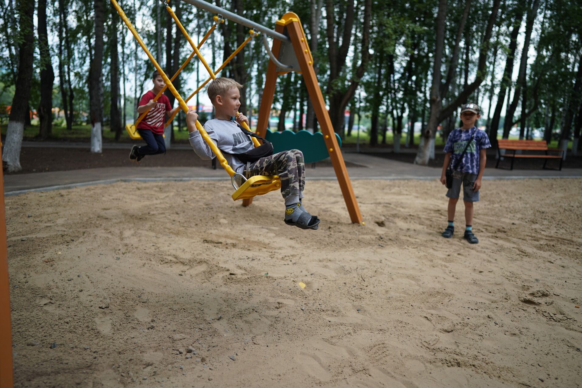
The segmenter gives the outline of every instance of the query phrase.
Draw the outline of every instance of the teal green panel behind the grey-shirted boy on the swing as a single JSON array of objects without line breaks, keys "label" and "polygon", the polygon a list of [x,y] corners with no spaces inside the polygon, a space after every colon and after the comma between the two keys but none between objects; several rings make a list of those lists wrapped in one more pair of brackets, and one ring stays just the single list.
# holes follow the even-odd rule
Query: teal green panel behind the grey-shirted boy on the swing
[{"label": "teal green panel behind the grey-shirted boy on the swing", "polygon": [[[335,134],[339,147],[342,147],[342,139]],[[303,130],[297,133],[284,130],[282,132],[271,132],[267,130],[265,138],[273,143],[273,153],[289,151],[289,149],[299,149],[303,152],[306,163],[315,163],[329,157],[329,152],[325,146],[324,135],[321,132],[311,134]]]}]

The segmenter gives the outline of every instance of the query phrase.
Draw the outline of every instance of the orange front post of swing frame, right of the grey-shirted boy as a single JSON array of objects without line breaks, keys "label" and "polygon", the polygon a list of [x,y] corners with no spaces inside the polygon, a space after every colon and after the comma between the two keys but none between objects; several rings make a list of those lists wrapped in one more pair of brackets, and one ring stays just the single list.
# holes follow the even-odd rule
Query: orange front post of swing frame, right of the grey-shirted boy
[{"label": "orange front post of swing frame, right of the grey-shirted boy", "polygon": [[350,183],[350,177],[347,175],[346,163],[343,161],[342,151],[339,149],[338,140],[335,138],[329,113],[325,109],[325,100],[321,94],[320,84],[317,82],[317,76],[315,76],[315,71],[313,70],[313,59],[311,59],[307,38],[303,33],[299,16],[293,12],[288,12],[283,15],[282,20],[278,21],[277,24],[277,27],[279,27],[279,24],[285,24],[289,39],[293,43],[295,55],[297,56],[297,60],[299,60],[301,74],[303,74],[307,92],[309,93],[311,102],[313,102],[313,109],[315,116],[317,116],[317,121],[320,124],[321,132],[324,134],[325,145],[328,148],[335,175],[338,177],[339,187],[342,189],[343,199],[346,201],[350,218],[353,223],[364,225],[360,207],[356,201],[352,183]]}]

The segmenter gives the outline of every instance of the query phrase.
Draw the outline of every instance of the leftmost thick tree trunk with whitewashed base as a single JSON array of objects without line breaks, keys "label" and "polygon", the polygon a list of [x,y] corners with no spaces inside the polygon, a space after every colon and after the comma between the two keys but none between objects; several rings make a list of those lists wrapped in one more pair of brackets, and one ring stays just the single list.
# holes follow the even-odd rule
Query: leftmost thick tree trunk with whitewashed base
[{"label": "leftmost thick tree trunk with whitewashed base", "polygon": [[34,0],[20,0],[18,3],[20,16],[20,34],[22,40],[19,46],[18,75],[16,77],[15,93],[10,108],[10,118],[6,128],[6,139],[2,152],[2,161],[8,165],[8,172],[22,170],[20,166],[20,148],[26,117],[30,117],[29,97],[30,84],[33,77],[34,55]]}]

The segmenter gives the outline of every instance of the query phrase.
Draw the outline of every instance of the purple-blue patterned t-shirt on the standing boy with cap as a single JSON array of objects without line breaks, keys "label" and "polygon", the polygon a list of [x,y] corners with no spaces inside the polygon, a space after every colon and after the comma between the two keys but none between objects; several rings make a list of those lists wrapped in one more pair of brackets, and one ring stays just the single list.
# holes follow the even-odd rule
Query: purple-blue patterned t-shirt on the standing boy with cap
[{"label": "purple-blue patterned t-shirt on the standing boy with cap", "polygon": [[[469,141],[471,136],[473,136],[473,133],[475,134],[473,141],[471,141],[471,144],[467,147],[463,160],[459,162],[463,149],[465,149],[467,141]],[[489,143],[489,137],[487,137],[487,133],[484,131],[477,129],[477,127],[473,127],[469,130],[461,130],[460,128],[457,128],[449,134],[443,151],[445,151],[445,153],[452,153],[452,155],[450,155],[451,168],[456,166],[457,171],[477,175],[479,173],[479,151],[489,147],[491,147],[491,143]]]}]

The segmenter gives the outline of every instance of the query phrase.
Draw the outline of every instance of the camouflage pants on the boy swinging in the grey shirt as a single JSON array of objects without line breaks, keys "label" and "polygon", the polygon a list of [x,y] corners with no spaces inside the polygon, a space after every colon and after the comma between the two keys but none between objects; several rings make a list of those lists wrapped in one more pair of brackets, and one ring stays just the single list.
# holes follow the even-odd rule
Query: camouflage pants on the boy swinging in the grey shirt
[{"label": "camouflage pants on the boy swinging in the grey shirt", "polygon": [[250,163],[244,172],[247,178],[255,175],[278,175],[281,179],[281,194],[283,198],[303,198],[305,187],[305,162],[299,149],[279,152],[266,158]]}]

